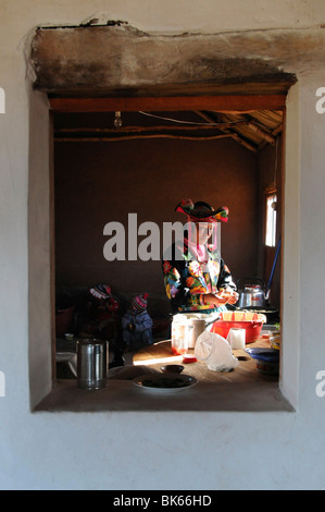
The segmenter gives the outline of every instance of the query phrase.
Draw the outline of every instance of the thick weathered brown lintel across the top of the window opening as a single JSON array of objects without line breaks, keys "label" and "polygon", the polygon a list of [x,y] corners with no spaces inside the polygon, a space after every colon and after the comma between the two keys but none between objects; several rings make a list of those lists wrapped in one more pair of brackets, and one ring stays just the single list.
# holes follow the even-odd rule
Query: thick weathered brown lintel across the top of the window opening
[{"label": "thick weathered brown lintel across the top of the window opening", "polygon": [[29,65],[35,88],[48,93],[137,95],[164,84],[283,83],[288,89],[324,57],[323,28],[152,36],[111,24],[38,28]]}]

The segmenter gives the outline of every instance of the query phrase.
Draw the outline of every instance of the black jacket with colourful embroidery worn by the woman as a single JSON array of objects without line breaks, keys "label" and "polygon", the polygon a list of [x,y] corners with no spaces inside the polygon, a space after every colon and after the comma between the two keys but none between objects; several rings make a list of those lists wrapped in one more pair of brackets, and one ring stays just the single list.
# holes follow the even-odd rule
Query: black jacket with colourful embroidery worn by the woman
[{"label": "black jacket with colourful embroidery worn by the woman", "polygon": [[198,260],[187,240],[184,247],[173,244],[164,256],[164,285],[173,313],[217,310],[214,304],[204,304],[203,296],[226,288],[236,290],[228,267],[211,245],[207,246],[207,263]]}]

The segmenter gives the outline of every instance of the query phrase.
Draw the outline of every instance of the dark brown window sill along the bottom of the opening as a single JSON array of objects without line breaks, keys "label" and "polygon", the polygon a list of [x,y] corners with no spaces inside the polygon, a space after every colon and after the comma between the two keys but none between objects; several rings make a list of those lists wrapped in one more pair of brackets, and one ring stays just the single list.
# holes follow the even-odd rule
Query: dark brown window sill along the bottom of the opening
[{"label": "dark brown window sill along the bottom of the opening", "polygon": [[198,382],[173,394],[137,388],[128,380],[109,380],[107,387],[85,391],[75,380],[58,380],[34,410],[37,412],[293,412],[278,382]]}]

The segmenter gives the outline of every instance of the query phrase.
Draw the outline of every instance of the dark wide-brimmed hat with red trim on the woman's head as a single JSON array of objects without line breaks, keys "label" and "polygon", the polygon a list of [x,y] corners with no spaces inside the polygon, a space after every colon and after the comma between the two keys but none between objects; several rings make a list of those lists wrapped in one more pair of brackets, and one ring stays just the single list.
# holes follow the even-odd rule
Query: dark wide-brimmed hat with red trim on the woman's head
[{"label": "dark wide-brimmed hat with red trim on the woman's head", "polygon": [[209,205],[209,203],[205,203],[204,200],[198,200],[197,203],[193,203],[191,199],[183,199],[175,207],[175,211],[185,214],[188,216],[189,220],[193,222],[203,220],[227,222],[229,214],[227,206],[221,206],[215,210],[211,205]]}]

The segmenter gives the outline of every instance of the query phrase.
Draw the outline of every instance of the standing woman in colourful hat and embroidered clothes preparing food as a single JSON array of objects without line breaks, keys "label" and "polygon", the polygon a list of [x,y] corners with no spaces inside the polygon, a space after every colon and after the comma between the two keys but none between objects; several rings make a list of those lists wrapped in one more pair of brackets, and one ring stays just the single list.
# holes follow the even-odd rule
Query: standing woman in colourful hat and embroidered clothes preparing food
[{"label": "standing woman in colourful hat and embroidered clothes preparing food", "polygon": [[214,210],[208,203],[183,199],[175,211],[186,215],[187,230],[162,263],[172,313],[209,314],[235,304],[236,285],[216,247],[217,222],[227,222],[228,208]]}]

